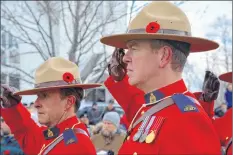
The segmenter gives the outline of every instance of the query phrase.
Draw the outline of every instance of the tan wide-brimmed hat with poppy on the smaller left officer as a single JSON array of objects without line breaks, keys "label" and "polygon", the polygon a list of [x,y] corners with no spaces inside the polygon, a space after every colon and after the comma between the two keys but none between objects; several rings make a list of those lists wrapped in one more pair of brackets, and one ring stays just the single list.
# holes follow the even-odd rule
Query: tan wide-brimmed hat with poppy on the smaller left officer
[{"label": "tan wide-brimmed hat with poppy on the smaller left officer", "polygon": [[82,84],[78,66],[61,57],[45,61],[35,73],[35,88],[16,92],[17,95],[33,95],[40,91],[78,87],[83,89],[102,86],[98,83]]}]

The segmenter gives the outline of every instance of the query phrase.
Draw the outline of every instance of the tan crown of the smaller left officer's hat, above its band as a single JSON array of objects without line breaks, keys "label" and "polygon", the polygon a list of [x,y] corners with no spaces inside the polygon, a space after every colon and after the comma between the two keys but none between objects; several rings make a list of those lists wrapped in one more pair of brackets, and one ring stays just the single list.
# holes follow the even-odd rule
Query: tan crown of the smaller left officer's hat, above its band
[{"label": "tan crown of the smaller left officer's hat, above its band", "polygon": [[64,73],[71,73],[74,79],[80,79],[78,66],[61,57],[46,60],[35,73],[35,84],[63,80]]}]

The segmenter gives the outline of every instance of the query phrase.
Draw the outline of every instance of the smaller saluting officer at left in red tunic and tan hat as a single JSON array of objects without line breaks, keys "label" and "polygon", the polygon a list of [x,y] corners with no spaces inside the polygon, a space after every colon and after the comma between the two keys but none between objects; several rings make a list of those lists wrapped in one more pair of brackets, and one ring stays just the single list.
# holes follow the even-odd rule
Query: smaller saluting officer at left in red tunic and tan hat
[{"label": "smaller saluting officer at left in red tunic and tan hat", "polygon": [[[1,95],[1,113],[25,154],[96,154],[84,124],[75,112],[84,89],[100,84],[82,84],[78,66],[59,57],[45,61],[35,74],[35,88],[15,92],[7,85]],[[19,95],[37,95],[38,127]]]}]

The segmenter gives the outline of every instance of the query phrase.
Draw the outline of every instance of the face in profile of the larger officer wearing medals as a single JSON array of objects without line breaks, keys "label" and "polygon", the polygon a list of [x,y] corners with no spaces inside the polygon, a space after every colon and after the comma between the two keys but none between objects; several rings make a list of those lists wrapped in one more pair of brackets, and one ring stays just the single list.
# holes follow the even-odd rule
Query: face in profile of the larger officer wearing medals
[{"label": "face in profile of the larger officer wearing medals", "polygon": [[157,76],[159,57],[151,48],[149,41],[137,40],[127,43],[128,51],[123,57],[127,64],[129,84],[140,88],[141,84]]}]

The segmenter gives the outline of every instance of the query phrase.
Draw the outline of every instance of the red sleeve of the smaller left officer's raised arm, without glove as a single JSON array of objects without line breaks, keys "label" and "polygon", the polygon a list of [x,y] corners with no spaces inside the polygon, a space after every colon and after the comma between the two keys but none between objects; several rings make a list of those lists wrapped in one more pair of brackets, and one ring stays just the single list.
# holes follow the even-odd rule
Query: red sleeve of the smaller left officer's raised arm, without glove
[{"label": "red sleeve of the smaller left officer's raised arm, without glove", "polygon": [[1,108],[1,113],[24,153],[38,153],[43,141],[42,131],[22,103],[12,108]]}]

